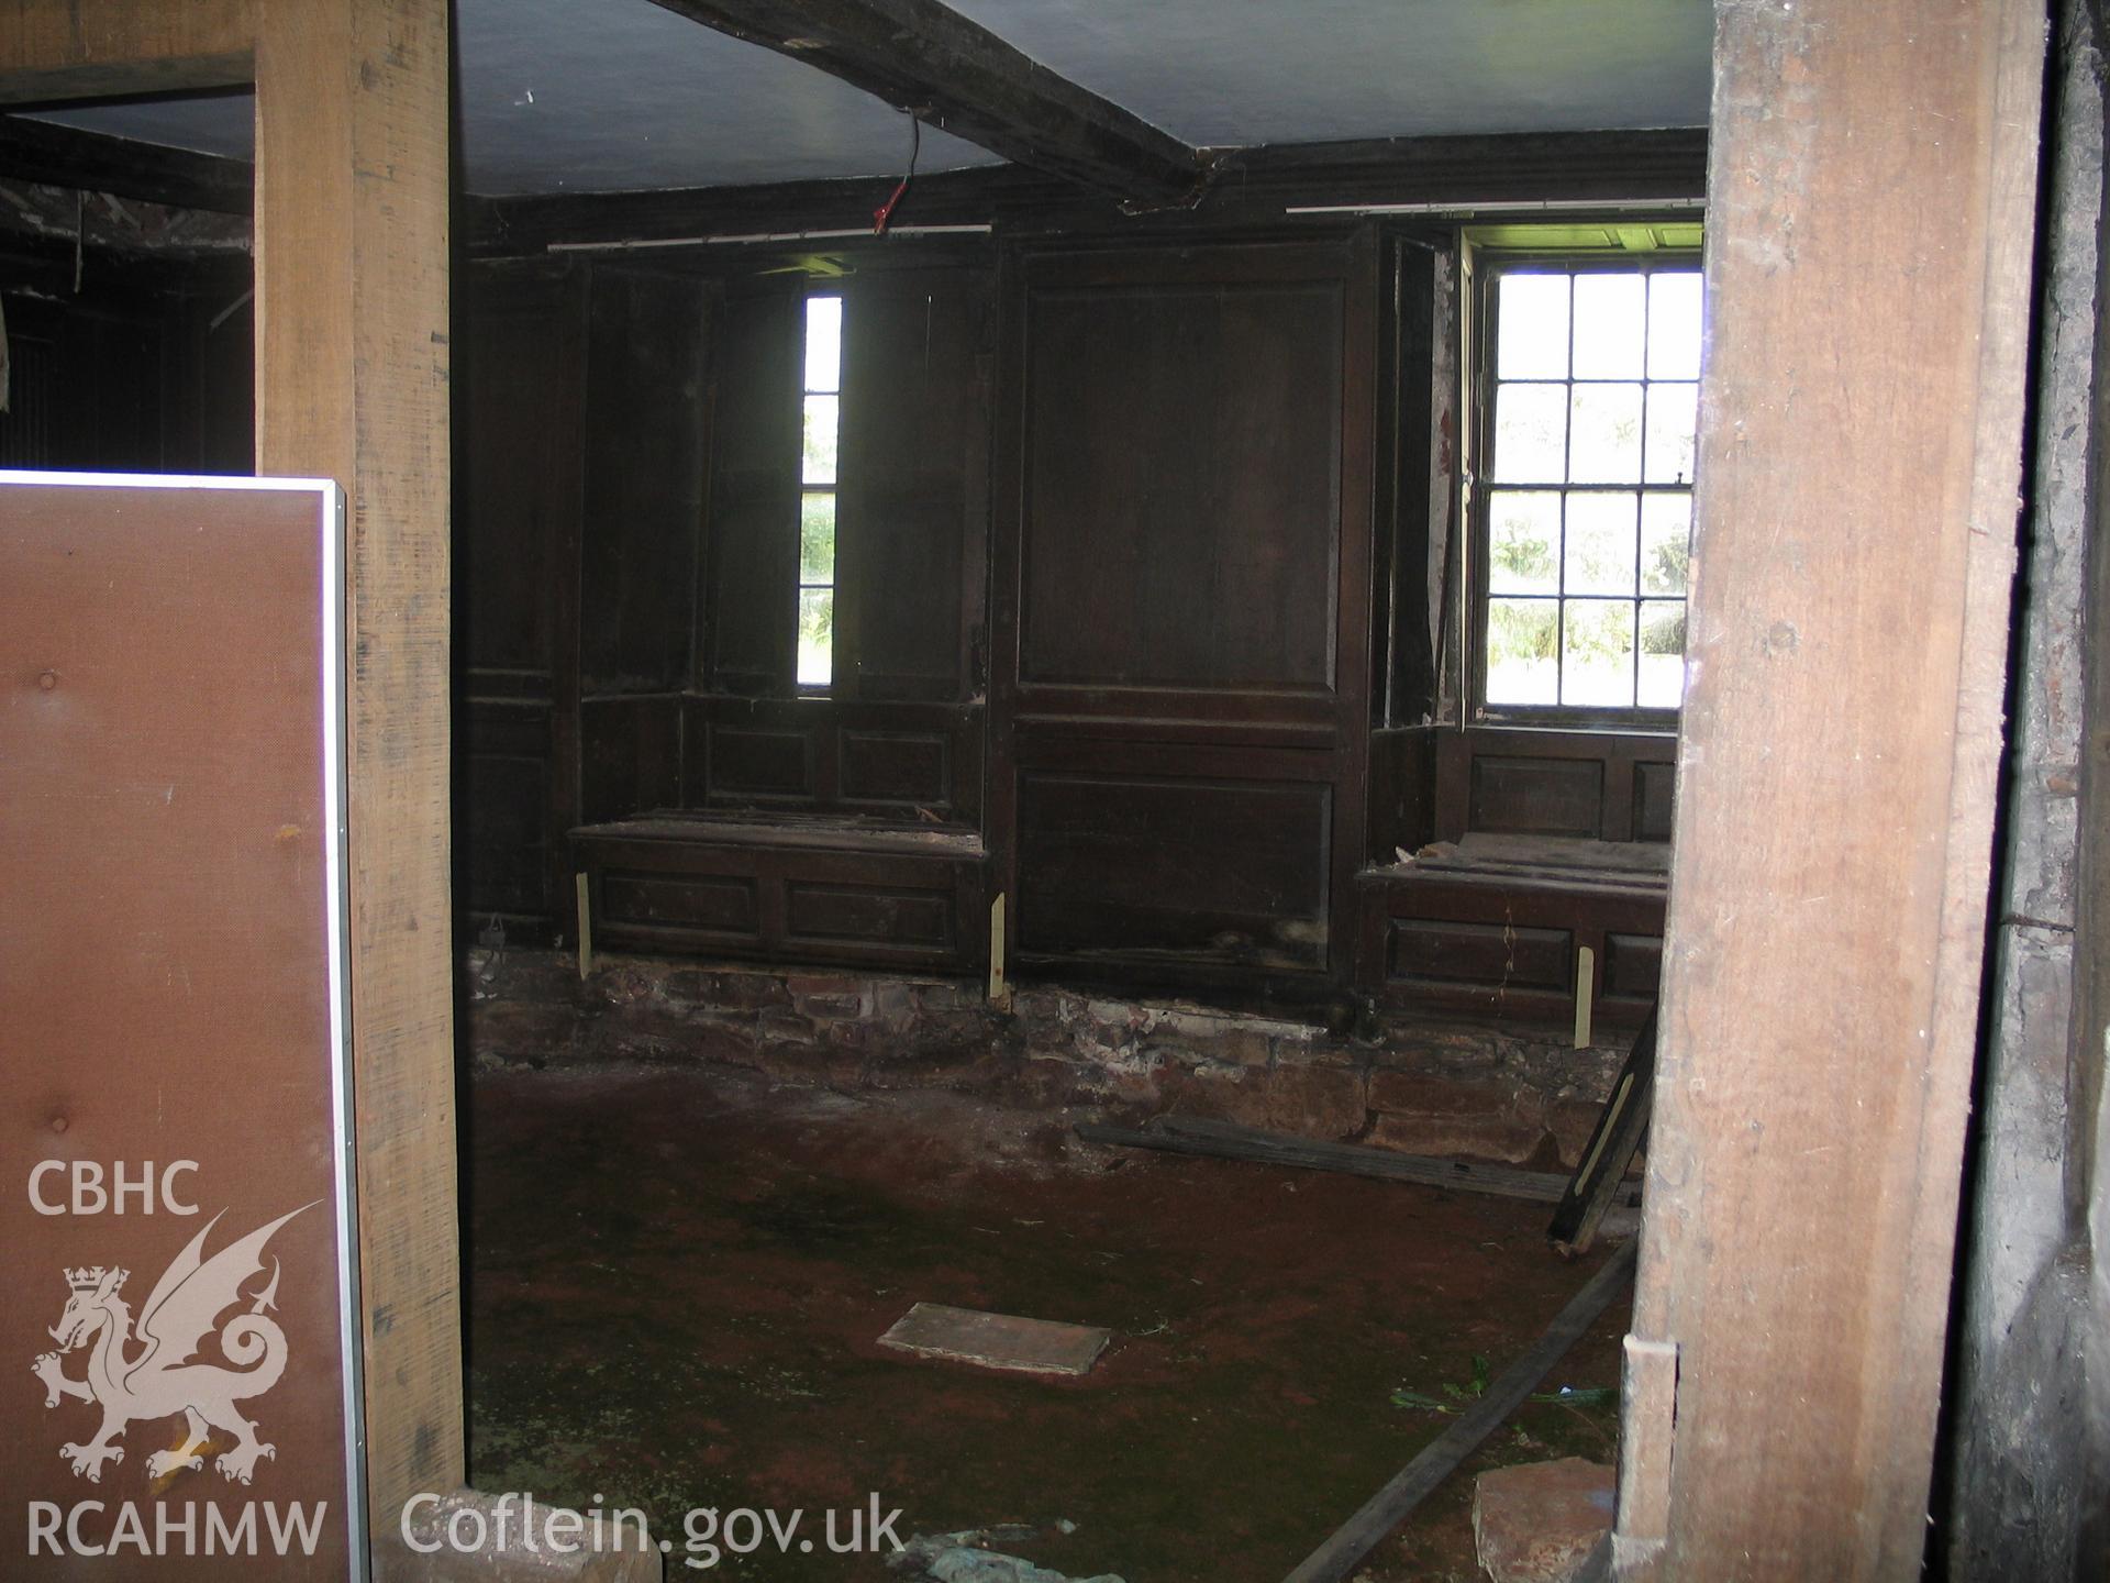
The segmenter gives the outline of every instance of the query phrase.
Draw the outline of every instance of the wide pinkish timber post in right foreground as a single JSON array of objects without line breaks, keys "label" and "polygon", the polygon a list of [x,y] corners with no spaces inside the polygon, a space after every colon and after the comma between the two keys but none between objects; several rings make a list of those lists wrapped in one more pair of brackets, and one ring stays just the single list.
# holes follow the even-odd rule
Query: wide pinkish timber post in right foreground
[{"label": "wide pinkish timber post in right foreground", "polygon": [[[2015,570],[2045,6],[1724,0],[1623,1579],[1916,1579]],[[1663,1368],[1663,1359],[1675,1359]],[[1671,1414],[1675,1412],[1675,1427]]]}]

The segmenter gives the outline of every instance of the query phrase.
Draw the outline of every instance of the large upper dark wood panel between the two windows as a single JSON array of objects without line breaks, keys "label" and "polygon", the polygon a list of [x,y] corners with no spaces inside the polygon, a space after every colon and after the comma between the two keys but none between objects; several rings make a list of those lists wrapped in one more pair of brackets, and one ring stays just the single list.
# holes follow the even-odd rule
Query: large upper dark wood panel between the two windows
[{"label": "large upper dark wood panel between the two windows", "polygon": [[1034,291],[1019,680],[1334,684],[1340,281]]}]

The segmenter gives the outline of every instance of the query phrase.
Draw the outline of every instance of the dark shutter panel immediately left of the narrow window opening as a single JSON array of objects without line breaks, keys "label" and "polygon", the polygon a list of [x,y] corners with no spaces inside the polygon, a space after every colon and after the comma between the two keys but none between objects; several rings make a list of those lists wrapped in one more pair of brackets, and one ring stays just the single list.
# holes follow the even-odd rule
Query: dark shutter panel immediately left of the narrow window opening
[{"label": "dark shutter panel immediately left of the narrow window opening", "polygon": [[791,697],[798,627],[800,293],[728,295],[711,403],[707,686]]}]

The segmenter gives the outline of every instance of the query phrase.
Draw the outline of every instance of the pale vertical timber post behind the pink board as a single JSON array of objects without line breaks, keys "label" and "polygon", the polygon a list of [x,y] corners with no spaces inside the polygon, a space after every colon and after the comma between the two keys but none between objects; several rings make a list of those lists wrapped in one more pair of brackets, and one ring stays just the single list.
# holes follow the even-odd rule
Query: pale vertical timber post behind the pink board
[{"label": "pale vertical timber post behind the pink board", "polygon": [[462,1482],[447,895],[447,0],[257,6],[257,471],[350,496],[367,1456]]}]

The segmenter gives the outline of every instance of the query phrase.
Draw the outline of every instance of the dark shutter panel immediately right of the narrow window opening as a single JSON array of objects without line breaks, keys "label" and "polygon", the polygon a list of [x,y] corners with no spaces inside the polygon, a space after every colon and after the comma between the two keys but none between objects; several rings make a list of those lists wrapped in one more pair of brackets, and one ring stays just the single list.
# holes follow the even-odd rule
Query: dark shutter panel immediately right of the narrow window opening
[{"label": "dark shutter panel immediately right of the narrow window opening", "polygon": [[966,699],[990,519],[990,276],[844,287],[840,697]]}]

